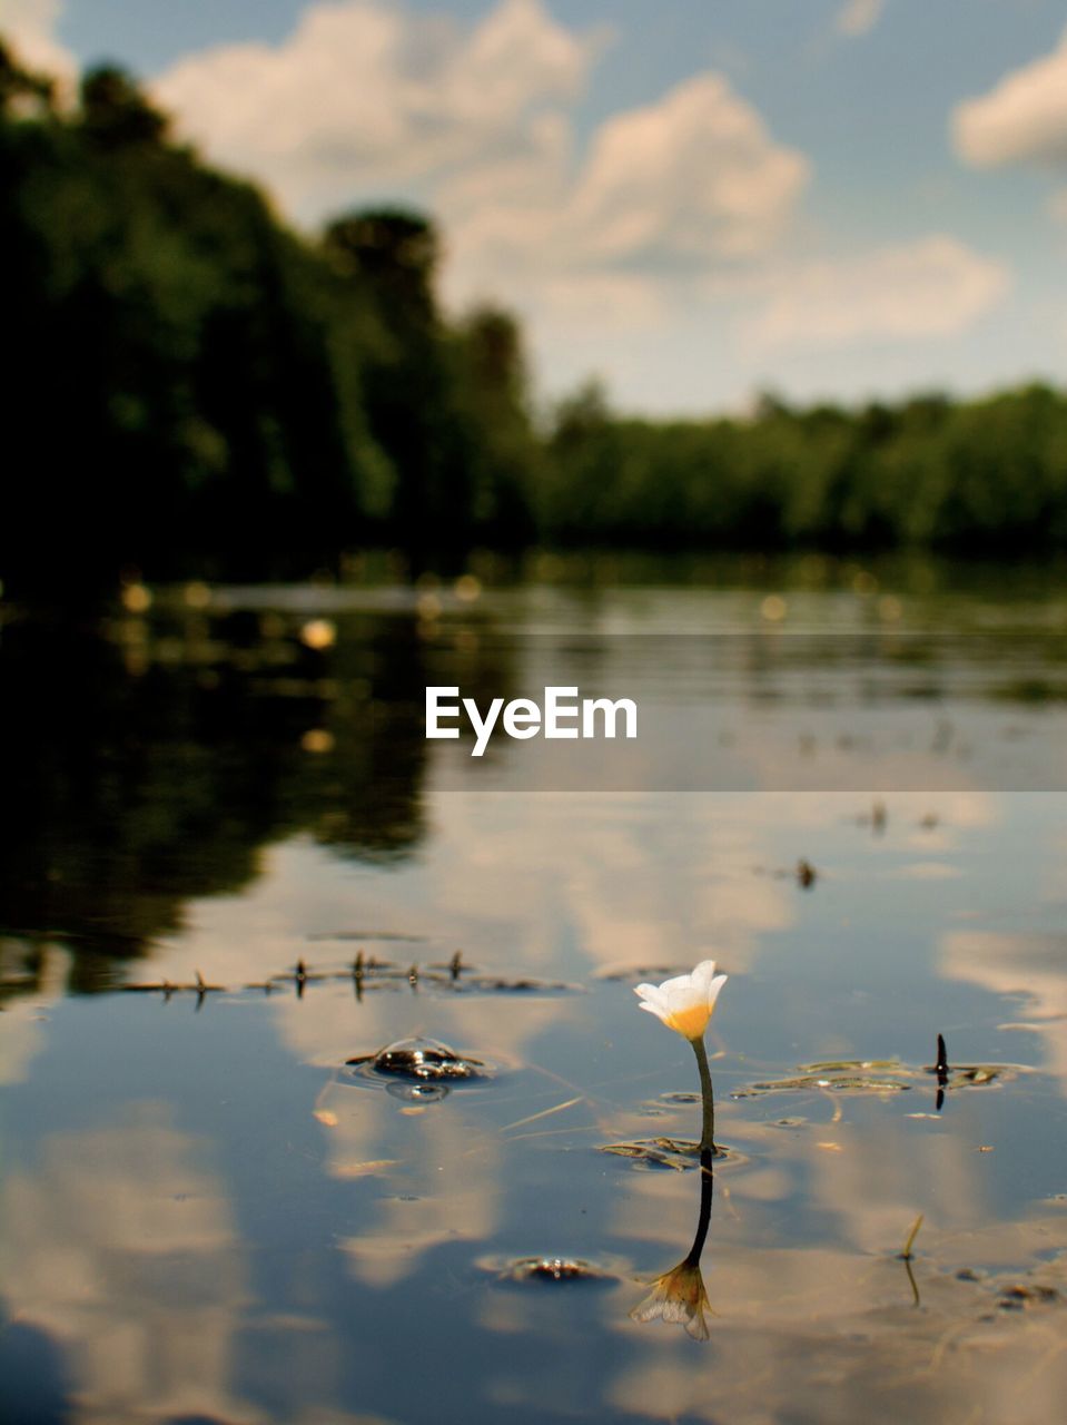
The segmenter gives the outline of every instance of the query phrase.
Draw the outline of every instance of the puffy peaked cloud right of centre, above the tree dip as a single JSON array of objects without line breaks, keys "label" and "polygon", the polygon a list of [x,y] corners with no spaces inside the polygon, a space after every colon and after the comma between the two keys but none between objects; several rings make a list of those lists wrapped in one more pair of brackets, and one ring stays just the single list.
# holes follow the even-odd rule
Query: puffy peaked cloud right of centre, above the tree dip
[{"label": "puffy peaked cloud right of centre, above the tree dip", "polygon": [[484,204],[444,184],[453,285],[536,281],[558,308],[561,294],[585,284],[585,306],[600,302],[593,289],[611,291],[625,325],[631,316],[654,325],[692,279],[771,251],[808,175],[806,158],[775,142],[725,78],[698,74],[601,124],[573,178],[547,165],[511,201],[497,188]]}]

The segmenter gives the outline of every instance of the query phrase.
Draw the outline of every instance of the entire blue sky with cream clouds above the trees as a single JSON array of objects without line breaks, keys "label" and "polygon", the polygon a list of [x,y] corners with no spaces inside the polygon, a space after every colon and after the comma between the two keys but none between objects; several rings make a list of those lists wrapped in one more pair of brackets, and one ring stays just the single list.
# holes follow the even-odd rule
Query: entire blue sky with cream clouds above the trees
[{"label": "entire blue sky with cream clouds above the trees", "polygon": [[295,227],[432,212],[544,399],[970,395],[1067,365],[1067,0],[0,0]]}]

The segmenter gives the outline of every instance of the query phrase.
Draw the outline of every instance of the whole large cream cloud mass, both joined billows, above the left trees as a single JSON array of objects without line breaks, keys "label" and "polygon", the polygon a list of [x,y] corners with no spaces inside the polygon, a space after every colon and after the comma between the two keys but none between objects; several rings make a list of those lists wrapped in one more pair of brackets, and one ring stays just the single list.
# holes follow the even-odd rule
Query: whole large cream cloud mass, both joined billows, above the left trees
[{"label": "whole large cream cloud mass, both joined billows, above the left trees", "polygon": [[540,0],[501,0],[473,28],[345,0],[312,6],[279,46],[188,56],[152,90],[305,221],[382,198],[429,207],[453,301],[558,311],[588,281],[618,323],[654,325],[687,274],[774,247],[809,165],[714,73],[611,115],[577,152],[573,111],[604,38]]}]

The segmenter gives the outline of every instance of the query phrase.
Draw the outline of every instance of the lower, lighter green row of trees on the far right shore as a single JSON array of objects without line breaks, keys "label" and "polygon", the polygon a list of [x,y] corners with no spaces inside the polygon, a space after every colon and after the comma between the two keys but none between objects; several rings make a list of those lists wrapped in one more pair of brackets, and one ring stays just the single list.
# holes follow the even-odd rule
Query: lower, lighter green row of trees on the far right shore
[{"label": "lower, lighter green row of trees on the far right shore", "polygon": [[548,437],[543,536],[563,544],[956,554],[1067,547],[1067,398],[634,420],[590,386]]}]

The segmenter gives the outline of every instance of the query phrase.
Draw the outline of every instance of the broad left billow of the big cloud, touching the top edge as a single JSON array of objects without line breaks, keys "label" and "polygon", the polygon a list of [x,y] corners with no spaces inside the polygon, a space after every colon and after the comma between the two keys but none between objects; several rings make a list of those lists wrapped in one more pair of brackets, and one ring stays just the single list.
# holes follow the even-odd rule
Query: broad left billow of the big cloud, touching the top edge
[{"label": "broad left billow of the big cloud, touching the top edge", "polygon": [[452,171],[554,157],[561,104],[604,41],[540,0],[503,0],[473,30],[379,0],[315,4],[279,46],[221,46],[152,86],[217,161],[265,180],[302,217]]}]

